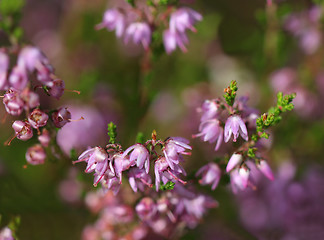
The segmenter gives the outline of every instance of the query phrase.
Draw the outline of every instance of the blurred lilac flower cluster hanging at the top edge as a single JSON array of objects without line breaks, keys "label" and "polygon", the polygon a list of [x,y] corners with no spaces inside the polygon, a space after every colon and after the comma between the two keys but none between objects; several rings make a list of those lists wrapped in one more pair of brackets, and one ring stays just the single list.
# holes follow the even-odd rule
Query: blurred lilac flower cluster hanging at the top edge
[{"label": "blurred lilac flower cluster hanging at the top edge", "polygon": [[[108,9],[103,17],[103,21],[97,25],[98,29],[107,28],[109,31],[116,31],[118,38],[123,38],[125,43],[132,41],[144,49],[148,49],[152,36],[155,31],[162,27],[163,44],[165,51],[170,54],[177,47],[183,52],[187,51],[186,45],[189,43],[186,30],[196,32],[195,23],[202,20],[201,14],[188,8],[171,8],[164,9],[160,14],[158,5],[144,7],[140,3],[130,4],[124,8]],[[169,23],[167,19],[169,18]]]}]

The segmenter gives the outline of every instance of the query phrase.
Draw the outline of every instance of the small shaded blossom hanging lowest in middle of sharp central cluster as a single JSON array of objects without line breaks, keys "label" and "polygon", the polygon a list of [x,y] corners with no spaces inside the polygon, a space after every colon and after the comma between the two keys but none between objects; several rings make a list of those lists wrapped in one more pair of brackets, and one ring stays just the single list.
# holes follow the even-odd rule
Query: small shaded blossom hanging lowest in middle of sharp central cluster
[{"label": "small shaded blossom hanging lowest in middle of sharp central cluster", "polygon": [[141,192],[144,191],[145,186],[152,186],[152,179],[149,174],[147,174],[144,169],[131,168],[128,172],[129,185],[134,192],[139,189]]}]

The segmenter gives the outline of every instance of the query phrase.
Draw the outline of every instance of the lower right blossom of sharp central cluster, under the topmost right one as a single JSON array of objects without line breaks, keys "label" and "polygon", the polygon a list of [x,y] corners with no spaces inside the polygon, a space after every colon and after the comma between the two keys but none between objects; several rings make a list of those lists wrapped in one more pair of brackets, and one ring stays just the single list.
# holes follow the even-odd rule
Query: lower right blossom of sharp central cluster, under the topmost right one
[{"label": "lower right blossom of sharp central cluster, under the topmost right one", "polygon": [[160,157],[156,160],[154,165],[154,173],[156,191],[159,190],[161,181],[163,184],[166,184],[169,181],[179,181],[181,183],[185,183],[178,178],[179,173],[186,175],[185,170],[180,165],[174,165],[174,169],[171,169],[165,157]]}]

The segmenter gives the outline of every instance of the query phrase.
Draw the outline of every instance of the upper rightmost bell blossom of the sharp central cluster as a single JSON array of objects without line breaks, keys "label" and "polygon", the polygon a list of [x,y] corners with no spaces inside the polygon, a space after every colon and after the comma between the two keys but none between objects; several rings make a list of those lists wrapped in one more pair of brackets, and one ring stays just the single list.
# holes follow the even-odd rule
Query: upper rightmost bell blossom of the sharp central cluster
[{"label": "upper rightmost bell blossom of the sharp central cluster", "polygon": [[188,145],[189,141],[180,137],[172,137],[166,140],[166,144],[163,148],[163,153],[165,159],[172,170],[175,169],[175,165],[183,161],[183,155],[191,155],[190,152],[186,150],[191,150],[192,148]]}]

